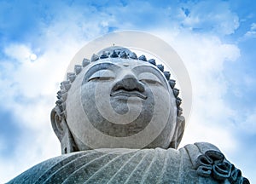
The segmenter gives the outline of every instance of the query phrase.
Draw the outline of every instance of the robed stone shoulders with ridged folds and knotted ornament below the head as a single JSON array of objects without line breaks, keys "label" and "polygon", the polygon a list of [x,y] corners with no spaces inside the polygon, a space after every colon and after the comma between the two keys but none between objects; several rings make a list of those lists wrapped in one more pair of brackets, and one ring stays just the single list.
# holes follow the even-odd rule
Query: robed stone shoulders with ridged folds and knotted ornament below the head
[{"label": "robed stone shoulders with ridged folds and knotted ornament below the head", "polygon": [[[169,149],[100,149],[46,160],[9,183],[219,183],[247,181],[217,147],[195,143]],[[229,183],[229,182],[225,182]],[[242,183],[242,182],[241,182]],[[248,183],[248,182],[243,182]]]}]

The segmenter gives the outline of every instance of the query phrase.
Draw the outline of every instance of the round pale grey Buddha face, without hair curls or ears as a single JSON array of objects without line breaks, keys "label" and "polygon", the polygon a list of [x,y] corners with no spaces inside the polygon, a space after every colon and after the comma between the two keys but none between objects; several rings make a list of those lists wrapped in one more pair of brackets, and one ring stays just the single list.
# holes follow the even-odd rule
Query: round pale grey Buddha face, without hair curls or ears
[{"label": "round pale grey Buddha face, without hair curls or ears", "polygon": [[67,125],[79,150],[169,147],[177,106],[160,70],[143,60],[90,63],[67,96]]}]

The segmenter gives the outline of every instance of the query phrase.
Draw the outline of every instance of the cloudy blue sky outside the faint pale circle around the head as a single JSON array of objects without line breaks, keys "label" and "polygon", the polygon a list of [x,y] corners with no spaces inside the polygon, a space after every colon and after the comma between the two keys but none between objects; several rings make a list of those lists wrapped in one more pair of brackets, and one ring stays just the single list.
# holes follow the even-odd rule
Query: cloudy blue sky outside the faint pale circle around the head
[{"label": "cloudy blue sky outside the faint pale circle around the head", "polygon": [[0,0],[0,182],[61,154],[49,112],[80,48],[137,30],[169,43],[193,86],[182,145],[209,141],[252,182],[256,174],[254,1]]}]

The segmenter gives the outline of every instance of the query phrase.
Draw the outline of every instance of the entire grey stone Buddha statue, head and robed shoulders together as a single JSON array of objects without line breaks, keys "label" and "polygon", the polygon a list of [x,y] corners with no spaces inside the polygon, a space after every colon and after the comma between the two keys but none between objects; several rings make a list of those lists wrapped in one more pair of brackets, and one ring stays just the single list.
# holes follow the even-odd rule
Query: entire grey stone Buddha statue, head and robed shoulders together
[{"label": "entire grey stone Buddha statue, head and robed shoulders together", "polygon": [[67,73],[50,119],[62,155],[9,183],[249,183],[218,147],[177,147],[185,127],[164,66],[109,47]]}]

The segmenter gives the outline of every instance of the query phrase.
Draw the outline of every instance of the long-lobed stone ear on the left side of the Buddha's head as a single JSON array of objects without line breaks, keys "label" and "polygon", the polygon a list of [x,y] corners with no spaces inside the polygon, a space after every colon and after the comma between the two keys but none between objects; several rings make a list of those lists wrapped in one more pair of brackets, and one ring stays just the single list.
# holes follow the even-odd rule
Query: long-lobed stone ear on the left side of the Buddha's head
[{"label": "long-lobed stone ear on the left side of the Buddha's head", "polygon": [[61,109],[55,106],[50,112],[50,121],[52,128],[55,131],[55,135],[61,142],[61,153],[76,152],[79,151],[75,142],[73,141],[73,135],[71,134],[66,118],[61,114]]}]

